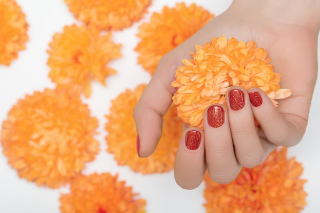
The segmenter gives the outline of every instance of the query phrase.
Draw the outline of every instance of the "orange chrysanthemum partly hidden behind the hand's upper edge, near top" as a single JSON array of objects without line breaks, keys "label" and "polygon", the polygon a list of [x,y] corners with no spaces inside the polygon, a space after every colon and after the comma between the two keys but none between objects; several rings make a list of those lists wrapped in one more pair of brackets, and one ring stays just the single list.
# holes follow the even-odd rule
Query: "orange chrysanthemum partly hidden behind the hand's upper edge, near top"
[{"label": "orange chrysanthemum partly hidden behind the hand's upper edge, near top", "polygon": [[164,7],[162,13],[153,13],[149,23],[139,28],[141,41],[134,49],[140,54],[138,63],[151,75],[159,60],[177,45],[187,40],[207,23],[214,15],[191,4],[176,4],[175,8]]}]

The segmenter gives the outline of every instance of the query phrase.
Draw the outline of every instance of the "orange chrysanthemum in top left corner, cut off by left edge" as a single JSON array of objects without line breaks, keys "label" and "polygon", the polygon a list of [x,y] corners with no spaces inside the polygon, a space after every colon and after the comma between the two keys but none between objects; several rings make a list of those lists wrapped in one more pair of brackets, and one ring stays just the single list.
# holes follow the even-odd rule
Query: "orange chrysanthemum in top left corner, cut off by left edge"
[{"label": "orange chrysanthemum in top left corner, cut off by left edge", "polygon": [[0,64],[9,66],[29,40],[25,14],[14,0],[0,0]]}]

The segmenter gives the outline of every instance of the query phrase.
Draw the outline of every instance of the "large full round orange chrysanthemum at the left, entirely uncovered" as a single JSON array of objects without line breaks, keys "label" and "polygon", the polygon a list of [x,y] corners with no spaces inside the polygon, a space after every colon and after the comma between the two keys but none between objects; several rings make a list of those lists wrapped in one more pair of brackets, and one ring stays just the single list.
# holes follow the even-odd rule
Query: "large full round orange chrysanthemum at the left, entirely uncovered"
[{"label": "large full round orange chrysanthemum at the left, entirely uncovered", "polygon": [[3,122],[1,143],[21,178],[57,188],[95,159],[98,120],[80,98],[45,89],[19,100]]}]

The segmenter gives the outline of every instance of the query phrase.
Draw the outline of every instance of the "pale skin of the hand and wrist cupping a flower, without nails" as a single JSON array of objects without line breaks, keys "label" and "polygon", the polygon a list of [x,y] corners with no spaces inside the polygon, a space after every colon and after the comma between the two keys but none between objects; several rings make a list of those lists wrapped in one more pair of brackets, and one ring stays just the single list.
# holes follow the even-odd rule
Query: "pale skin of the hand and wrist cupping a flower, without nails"
[{"label": "pale skin of the hand and wrist cupping a flower, without nails", "polygon": [[[279,100],[279,106],[275,107],[259,88],[230,88],[226,93],[227,108],[223,106],[221,127],[208,125],[205,112],[203,131],[189,127],[182,133],[174,169],[177,184],[186,189],[196,188],[206,170],[213,181],[228,183],[237,177],[241,167],[255,167],[277,146],[298,144],[308,123],[317,77],[319,9],[319,0],[235,0],[224,13],[166,54],[134,108],[140,137],[139,156],[148,157],[156,149],[163,116],[176,91],[171,83],[176,68],[182,65],[181,60],[190,58],[195,44],[203,45],[212,37],[222,35],[238,41],[257,42],[268,52],[275,72],[282,75],[281,87],[291,89],[292,95]],[[235,88],[243,91],[245,103],[237,111],[229,107],[228,100],[228,92]],[[262,98],[258,107],[250,104],[248,93],[253,91]],[[254,116],[260,124],[258,132]],[[196,150],[186,147],[186,133],[191,130],[201,133]]]}]

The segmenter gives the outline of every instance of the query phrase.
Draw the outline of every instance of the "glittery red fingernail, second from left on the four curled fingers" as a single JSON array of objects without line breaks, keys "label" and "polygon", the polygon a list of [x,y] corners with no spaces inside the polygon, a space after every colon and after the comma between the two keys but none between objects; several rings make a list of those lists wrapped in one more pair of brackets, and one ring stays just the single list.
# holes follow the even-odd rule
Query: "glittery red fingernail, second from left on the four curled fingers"
[{"label": "glittery red fingernail, second from left on the four curled fingers", "polygon": [[212,105],[207,110],[207,120],[211,127],[218,128],[224,123],[224,111],[219,105]]}]

